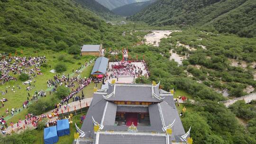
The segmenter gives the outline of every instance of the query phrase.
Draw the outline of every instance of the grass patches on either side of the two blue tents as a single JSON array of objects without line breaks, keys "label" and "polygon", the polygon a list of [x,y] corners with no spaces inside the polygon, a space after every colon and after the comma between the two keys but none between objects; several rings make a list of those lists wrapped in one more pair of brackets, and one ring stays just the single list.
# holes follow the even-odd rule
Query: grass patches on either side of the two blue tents
[{"label": "grass patches on either side of the two blue tents", "polygon": [[[82,126],[82,124],[80,123],[81,116],[82,114],[73,116],[72,118],[73,124],[70,125],[70,135],[59,137],[59,141],[56,144],[72,144],[73,143],[74,133],[76,132],[75,123],[78,127]],[[44,130],[34,130],[34,131],[35,131],[35,136],[37,137],[37,140],[34,144],[44,144]]]}]

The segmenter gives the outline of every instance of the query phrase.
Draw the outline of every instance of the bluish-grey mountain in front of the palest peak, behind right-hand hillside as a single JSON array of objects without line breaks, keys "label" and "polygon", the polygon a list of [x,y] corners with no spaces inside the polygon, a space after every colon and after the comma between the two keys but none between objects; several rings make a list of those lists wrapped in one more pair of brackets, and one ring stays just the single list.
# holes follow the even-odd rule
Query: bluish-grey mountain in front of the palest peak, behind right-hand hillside
[{"label": "bluish-grey mountain in front of the palest peak, behind right-hand hillside", "polygon": [[155,0],[145,1],[145,2],[136,2],[136,3],[124,5],[116,9],[112,9],[112,11],[117,15],[131,16],[136,14],[140,10],[145,9],[148,5],[152,4],[153,2],[155,2]]}]

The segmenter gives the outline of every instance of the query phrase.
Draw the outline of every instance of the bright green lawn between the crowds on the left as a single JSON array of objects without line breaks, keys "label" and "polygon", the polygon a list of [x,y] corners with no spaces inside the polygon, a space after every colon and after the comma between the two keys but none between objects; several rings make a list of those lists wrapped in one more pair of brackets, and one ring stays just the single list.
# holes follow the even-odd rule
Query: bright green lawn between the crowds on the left
[{"label": "bright green lawn between the crowds on the left", "polygon": [[[28,53],[27,53],[28,51]],[[18,56],[38,56],[38,54],[34,53],[34,49],[31,50],[27,50],[26,52],[24,51],[23,55],[18,55]],[[23,101],[25,101],[27,99],[28,96],[28,92],[30,93],[30,96],[34,94],[35,90],[39,91],[39,90],[48,90],[46,92],[46,98],[42,98],[42,99],[49,99],[50,97],[53,96],[49,95],[49,90],[47,88],[46,85],[46,81],[49,79],[53,79],[53,76],[57,73],[51,73],[50,70],[54,69],[55,64],[59,63],[58,57],[60,57],[60,55],[64,56],[64,60],[63,63],[65,63],[65,65],[67,66],[67,71],[64,73],[69,73],[70,75],[72,74],[72,69],[78,69],[79,67],[81,67],[82,64],[84,64],[85,62],[90,61],[93,57],[91,56],[82,56],[81,59],[75,59],[73,58],[73,55],[70,54],[66,54],[65,52],[58,52],[55,53],[51,50],[42,50],[40,51],[40,55],[39,56],[46,56],[46,60],[47,60],[47,65],[48,67],[44,68],[41,67],[41,72],[43,73],[42,75],[37,75],[36,78],[33,79],[33,81],[31,82],[31,84],[35,84],[35,87],[32,88],[32,90],[27,91],[26,87],[27,85],[23,85],[22,81],[9,81],[3,85],[0,85],[0,90],[5,91],[6,87],[12,87],[15,86],[15,93],[12,92],[10,90],[10,88],[8,88],[8,93],[4,96],[2,96],[2,98],[6,98],[8,99],[7,102],[4,102],[5,107],[4,108],[0,108],[0,115],[6,117],[6,119],[8,119],[8,122],[13,121],[16,122],[18,121],[19,118],[24,118],[25,115],[27,114],[27,109],[22,110],[20,113],[15,113],[14,117],[11,117],[10,114],[9,116],[7,116],[5,114],[5,109],[9,108],[9,111],[11,110],[11,108],[22,108],[22,103]],[[51,66],[51,68],[50,68]],[[82,72],[82,76],[86,76],[88,77],[91,73],[91,69],[92,69],[93,64],[89,67],[89,68],[85,68],[85,70]],[[17,85],[20,86],[21,89],[18,89],[18,87],[16,87]],[[93,90],[93,89],[92,89]],[[91,90],[88,90],[89,92]],[[86,91],[85,95],[87,95]],[[88,95],[91,95],[91,93],[89,93]],[[10,118],[11,117],[11,118]]]}]

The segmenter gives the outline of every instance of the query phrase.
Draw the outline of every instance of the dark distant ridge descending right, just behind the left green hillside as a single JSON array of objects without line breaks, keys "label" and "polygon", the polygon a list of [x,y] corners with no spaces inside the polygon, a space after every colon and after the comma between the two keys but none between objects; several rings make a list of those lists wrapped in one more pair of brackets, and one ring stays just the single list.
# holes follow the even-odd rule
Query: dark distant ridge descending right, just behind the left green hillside
[{"label": "dark distant ridge descending right, just behind the left green hillside", "polygon": [[95,0],[75,0],[77,3],[81,4],[83,8],[90,9],[97,15],[104,19],[109,20],[110,18],[117,17],[108,8],[102,6],[99,2]]}]

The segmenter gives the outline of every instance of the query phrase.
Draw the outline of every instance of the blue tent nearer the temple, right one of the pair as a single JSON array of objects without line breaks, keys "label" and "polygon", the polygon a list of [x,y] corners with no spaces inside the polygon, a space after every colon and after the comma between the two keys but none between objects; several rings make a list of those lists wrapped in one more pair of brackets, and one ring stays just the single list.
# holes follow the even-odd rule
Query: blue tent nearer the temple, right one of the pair
[{"label": "blue tent nearer the temple, right one of the pair", "polygon": [[57,133],[58,136],[70,134],[68,119],[62,119],[57,121]]}]

